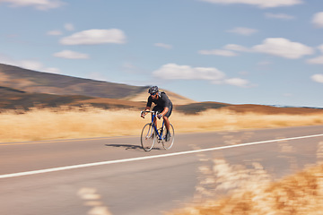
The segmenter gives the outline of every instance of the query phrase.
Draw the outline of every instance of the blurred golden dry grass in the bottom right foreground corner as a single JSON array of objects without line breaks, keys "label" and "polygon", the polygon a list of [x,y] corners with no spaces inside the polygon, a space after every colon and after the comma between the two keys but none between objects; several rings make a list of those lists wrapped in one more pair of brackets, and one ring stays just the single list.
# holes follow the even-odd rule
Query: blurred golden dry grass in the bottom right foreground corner
[{"label": "blurred golden dry grass in the bottom right foreground corner", "polygon": [[[262,174],[256,175],[256,179],[253,179],[255,175],[247,175],[241,168],[234,174],[240,186],[228,197],[201,202],[168,214],[323,214],[323,165],[275,183],[269,183]],[[230,174],[227,174],[228,177],[228,183],[232,184]]]}]

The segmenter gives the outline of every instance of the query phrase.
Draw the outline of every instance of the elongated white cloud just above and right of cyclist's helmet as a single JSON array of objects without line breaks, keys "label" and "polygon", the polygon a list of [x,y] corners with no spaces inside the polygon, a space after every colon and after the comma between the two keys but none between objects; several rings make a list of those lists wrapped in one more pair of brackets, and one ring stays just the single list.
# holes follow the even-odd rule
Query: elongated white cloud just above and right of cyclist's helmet
[{"label": "elongated white cloud just above and right of cyclist's helmet", "polygon": [[223,80],[225,74],[213,67],[191,67],[189,65],[164,64],[153,75],[161,79],[208,80],[211,82]]}]

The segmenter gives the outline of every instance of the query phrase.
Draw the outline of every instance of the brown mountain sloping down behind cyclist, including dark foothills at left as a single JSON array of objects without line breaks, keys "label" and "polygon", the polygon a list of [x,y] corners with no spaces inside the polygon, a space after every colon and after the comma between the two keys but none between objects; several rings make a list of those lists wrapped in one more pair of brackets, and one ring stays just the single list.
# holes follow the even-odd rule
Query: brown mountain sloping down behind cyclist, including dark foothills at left
[{"label": "brown mountain sloping down behind cyclist, including dark foothills at left", "polygon": [[[0,108],[61,105],[144,108],[148,86],[100,82],[54,73],[41,73],[0,64]],[[195,102],[167,90],[174,104]],[[41,105],[40,105],[41,104]]]}]

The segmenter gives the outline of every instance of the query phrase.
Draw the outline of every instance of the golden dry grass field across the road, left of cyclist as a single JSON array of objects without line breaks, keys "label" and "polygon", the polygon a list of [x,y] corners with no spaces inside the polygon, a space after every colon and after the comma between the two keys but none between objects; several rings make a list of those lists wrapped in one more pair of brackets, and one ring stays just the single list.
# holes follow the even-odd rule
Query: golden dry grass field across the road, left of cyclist
[{"label": "golden dry grass field across the road, left of cyclist", "polygon": [[142,121],[131,110],[99,108],[45,108],[24,114],[0,115],[1,142],[133,135],[140,132]]}]

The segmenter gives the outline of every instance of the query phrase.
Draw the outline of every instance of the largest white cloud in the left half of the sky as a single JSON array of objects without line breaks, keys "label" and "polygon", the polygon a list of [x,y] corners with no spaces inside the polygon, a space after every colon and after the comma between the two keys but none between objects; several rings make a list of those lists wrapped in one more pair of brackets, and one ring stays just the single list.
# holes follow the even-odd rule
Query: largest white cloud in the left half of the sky
[{"label": "largest white cloud in the left half of the sky", "polygon": [[83,30],[60,40],[63,45],[94,45],[103,43],[126,43],[122,30]]}]

